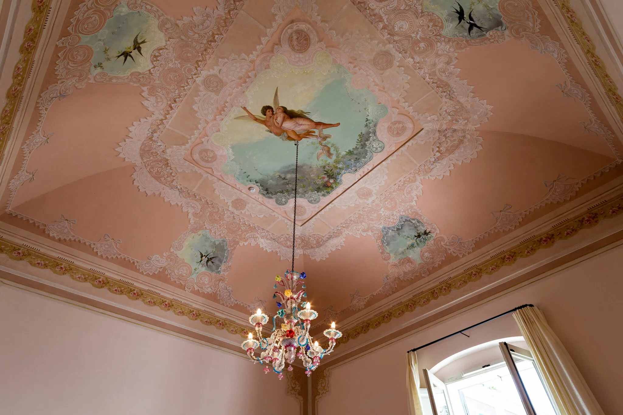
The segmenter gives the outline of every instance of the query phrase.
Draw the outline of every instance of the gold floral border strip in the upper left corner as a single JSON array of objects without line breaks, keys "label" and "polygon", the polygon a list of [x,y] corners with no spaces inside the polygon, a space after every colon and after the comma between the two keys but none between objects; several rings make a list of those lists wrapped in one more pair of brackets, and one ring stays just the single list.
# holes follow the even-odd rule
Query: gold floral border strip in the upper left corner
[{"label": "gold floral border strip in the upper left corner", "polygon": [[12,83],[5,95],[6,104],[0,113],[0,153],[4,153],[7,139],[11,134],[11,125],[22,100],[24,85],[29,76],[37,42],[43,32],[49,4],[50,0],[32,0],[32,16],[24,27],[24,40],[19,47],[19,60],[13,69]]}]

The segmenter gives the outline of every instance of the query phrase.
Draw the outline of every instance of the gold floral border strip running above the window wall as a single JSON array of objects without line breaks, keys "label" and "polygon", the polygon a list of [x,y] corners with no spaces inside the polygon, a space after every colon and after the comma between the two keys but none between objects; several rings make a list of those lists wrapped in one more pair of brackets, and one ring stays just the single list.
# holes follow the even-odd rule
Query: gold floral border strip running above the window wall
[{"label": "gold floral border strip running above the window wall", "polygon": [[338,345],[346,343],[351,338],[368,333],[371,329],[377,329],[381,325],[390,322],[392,319],[402,317],[407,312],[412,312],[417,307],[424,307],[431,301],[439,299],[441,296],[450,294],[453,290],[466,286],[469,282],[478,281],[483,275],[491,275],[503,266],[514,264],[519,258],[528,258],[536,251],[550,248],[559,240],[566,240],[576,235],[580,230],[592,228],[604,219],[616,217],[623,212],[623,195],[618,195],[611,200],[597,203],[589,208],[586,213],[576,215],[573,219],[564,221],[558,226],[541,235],[533,236],[527,241],[522,241],[519,245],[506,249],[495,255],[492,259],[485,261],[475,267],[470,267],[468,271],[444,281],[426,292],[420,292],[415,296],[402,301],[401,303],[386,310],[381,315],[373,319],[366,320],[350,330],[345,330],[343,336],[338,340]]}]

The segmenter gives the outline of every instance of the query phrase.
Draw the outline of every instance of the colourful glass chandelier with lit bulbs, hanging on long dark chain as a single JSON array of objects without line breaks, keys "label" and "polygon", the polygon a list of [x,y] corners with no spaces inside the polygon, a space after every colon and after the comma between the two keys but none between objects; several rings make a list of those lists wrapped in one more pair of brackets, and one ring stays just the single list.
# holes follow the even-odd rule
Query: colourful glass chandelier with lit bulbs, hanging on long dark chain
[{"label": "colourful glass chandelier with lit bulbs, hanging on long dark chain", "polygon": [[[262,337],[262,327],[269,322],[268,315],[257,309],[255,314],[249,317],[250,324],[255,326],[257,338],[253,338],[253,333],[249,333],[249,338],[242,342],[241,347],[247,351],[253,363],[266,365],[264,373],[272,370],[277,373],[277,377],[283,379],[283,368],[288,365],[288,371],[292,371],[292,363],[296,358],[300,358],[305,366],[307,376],[312,375],[312,371],[320,365],[320,359],[333,351],[337,338],[342,333],[335,329],[335,322],[331,323],[331,328],[323,333],[329,338],[329,347],[326,350],[318,344],[318,340],[313,341],[309,331],[312,320],[318,317],[318,313],[312,310],[309,301],[303,301],[307,297],[303,279],[307,277],[305,273],[294,271],[294,248],[297,223],[297,180],[298,180],[298,141],[295,141],[297,148],[297,158],[294,173],[294,218],[292,223],[292,269],[286,270],[283,277],[276,276],[274,288],[283,287],[283,292],[276,291],[273,298],[279,297],[277,314],[273,316],[273,329],[270,337]],[[281,325],[277,325],[277,317],[283,320]],[[260,348],[260,357],[255,356],[255,349]]]}]

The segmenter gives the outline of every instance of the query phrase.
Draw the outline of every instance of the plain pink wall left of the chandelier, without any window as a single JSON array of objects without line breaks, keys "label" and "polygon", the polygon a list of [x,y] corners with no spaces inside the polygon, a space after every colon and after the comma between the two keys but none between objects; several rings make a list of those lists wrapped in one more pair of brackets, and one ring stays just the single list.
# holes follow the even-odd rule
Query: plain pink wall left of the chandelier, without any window
[{"label": "plain pink wall left of the chandelier, without any window", "polygon": [[0,413],[298,414],[230,352],[0,284]]}]

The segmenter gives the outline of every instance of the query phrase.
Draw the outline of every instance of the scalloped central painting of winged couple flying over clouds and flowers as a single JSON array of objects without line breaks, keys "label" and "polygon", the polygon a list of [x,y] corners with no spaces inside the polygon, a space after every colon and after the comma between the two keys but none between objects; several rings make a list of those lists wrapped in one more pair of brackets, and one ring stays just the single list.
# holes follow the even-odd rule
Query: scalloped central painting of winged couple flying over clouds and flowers
[{"label": "scalloped central painting of winged couple flying over clouds and flowers", "polygon": [[[305,38],[294,41],[298,47]],[[344,174],[385,148],[376,126],[388,108],[368,88],[354,88],[352,78],[325,51],[304,67],[273,56],[247,89],[247,106],[232,110],[215,134],[227,149],[223,172],[285,205],[294,197],[293,142],[299,142],[298,197],[320,202]]]}]

